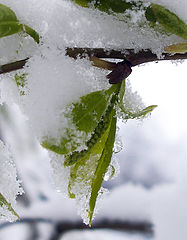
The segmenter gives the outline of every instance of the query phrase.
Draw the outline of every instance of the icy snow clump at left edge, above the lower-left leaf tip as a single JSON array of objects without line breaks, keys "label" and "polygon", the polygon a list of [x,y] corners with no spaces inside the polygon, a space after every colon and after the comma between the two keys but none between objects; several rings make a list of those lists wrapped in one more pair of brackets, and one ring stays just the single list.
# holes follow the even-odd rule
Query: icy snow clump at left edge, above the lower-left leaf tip
[{"label": "icy snow clump at left edge, above the lower-left leaf tip", "polygon": [[[16,168],[8,148],[0,141],[0,193],[5,197],[6,201],[15,208],[16,196],[22,194],[20,182],[17,180]],[[0,207],[0,220],[15,221],[14,216],[4,204]]]}]

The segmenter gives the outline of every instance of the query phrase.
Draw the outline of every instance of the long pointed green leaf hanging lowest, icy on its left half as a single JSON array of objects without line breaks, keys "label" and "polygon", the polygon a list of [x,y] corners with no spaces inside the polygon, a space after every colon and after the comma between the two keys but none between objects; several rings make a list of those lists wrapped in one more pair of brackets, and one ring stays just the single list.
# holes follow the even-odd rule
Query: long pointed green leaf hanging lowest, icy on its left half
[{"label": "long pointed green leaf hanging lowest, icy on its left half", "polygon": [[85,185],[90,188],[91,196],[89,198],[88,218],[91,224],[96,199],[103,182],[104,175],[107,172],[111,162],[114,139],[116,133],[116,113],[114,110],[114,96],[111,105],[104,115],[106,128],[100,138],[95,142],[92,148],[88,149],[84,156],[79,158],[70,168],[69,196],[76,198],[74,186],[76,184]]}]

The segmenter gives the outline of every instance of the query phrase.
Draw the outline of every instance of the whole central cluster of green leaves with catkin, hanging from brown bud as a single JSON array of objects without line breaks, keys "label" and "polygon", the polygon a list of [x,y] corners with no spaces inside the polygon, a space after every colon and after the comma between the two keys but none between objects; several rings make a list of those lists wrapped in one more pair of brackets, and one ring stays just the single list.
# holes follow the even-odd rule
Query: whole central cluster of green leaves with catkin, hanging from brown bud
[{"label": "whole central cluster of green leaves with catkin, hanging from brown bud", "polygon": [[[126,111],[123,104],[125,94],[125,80],[112,85],[108,90],[92,92],[81,97],[80,101],[73,103],[71,116],[79,131],[90,134],[85,143],[85,149],[79,151],[64,151],[64,145],[51,145],[48,141],[42,143],[47,149],[63,154],[64,166],[70,168],[69,196],[78,197],[76,186],[89,189],[89,207],[87,209],[89,224],[91,225],[97,197],[100,193],[104,176],[110,166],[116,135],[116,110],[124,113],[124,119],[145,117],[156,106],[150,106],[142,111],[132,113]],[[66,136],[66,142],[70,139]],[[63,136],[63,139],[65,136]],[[73,141],[71,141],[71,144]],[[75,145],[71,149],[75,148]]]}]

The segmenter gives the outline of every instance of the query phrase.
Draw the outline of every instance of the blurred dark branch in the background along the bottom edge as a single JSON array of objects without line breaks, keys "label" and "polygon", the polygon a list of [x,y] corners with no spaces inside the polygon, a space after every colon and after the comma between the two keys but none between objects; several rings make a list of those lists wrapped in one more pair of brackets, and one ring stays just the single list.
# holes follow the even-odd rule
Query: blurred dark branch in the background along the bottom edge
[{"label": "blurred dark branch in the background along the bottom edge", "polygon": [[28,224],[30,226],[35,226],[36,224],[49,224],[53,227],[52,235],[48,239],[57,240],[62,237],[62,235],[68,231],[72,230],[93,230],[93,229],[112,229],[115,231],[124,231],[128,233],[138,233],[144,236],[153,236],[154,229],[151,222],[146,221],[122,221],[122,220],[111,220],[111,219],[100,219],[92,224],[92,227],[88,227],[81,221],[67,221],[60,220],[54,221],[52,219],[45,218],[21,218],[20,221],[13,223],[5,222],[0,224],[0,230],[13,225]]}]

